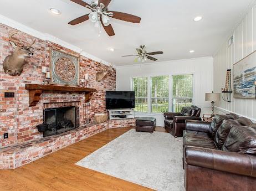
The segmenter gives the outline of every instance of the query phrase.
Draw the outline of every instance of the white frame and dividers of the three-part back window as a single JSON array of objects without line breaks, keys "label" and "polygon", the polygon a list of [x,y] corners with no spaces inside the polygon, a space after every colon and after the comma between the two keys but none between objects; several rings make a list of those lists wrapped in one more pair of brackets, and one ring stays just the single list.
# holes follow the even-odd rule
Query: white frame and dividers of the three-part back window
[{"label": "white frame and dividers of the three-part back window", "polygon": [[[133,78],[147,78],[147,112],[139,112],[139,111],[135,111],[135,113],[137,113],[138,115],[159,115],[162,116],[162,113],[157,113],[157,112],[151,112],[151,77],[157,77],[157,76],[169,76],[169,106],[168,106],[168,112],[173,112],[173,108],[172,108],[172,76],[176,76],[176,75],[192,75],[193,76],[193,80],[192,80],[192,86],[193,86],[193,96],[192,96],[192,105],[194,104],[194,79],[196,78],[196,74],[194,73],[173,73],[173,74],[160,74],[160,75],[147,75],[147,76],[131,76],[130,77],[130,91],[133,91]],[[150,101],[149,101],[150,100]]]}]

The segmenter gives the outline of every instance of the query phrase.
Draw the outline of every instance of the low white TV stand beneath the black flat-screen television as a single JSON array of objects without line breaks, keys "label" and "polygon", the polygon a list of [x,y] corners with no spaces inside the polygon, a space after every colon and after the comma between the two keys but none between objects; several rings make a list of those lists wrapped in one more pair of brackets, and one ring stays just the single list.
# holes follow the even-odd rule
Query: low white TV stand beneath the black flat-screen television
[{"label": "low white TV stand beneath the black flat-screen television", "polygon": [[123,120],[126,118],[134,118],[133,109],[111,109],[109,110],[109,120]]}]

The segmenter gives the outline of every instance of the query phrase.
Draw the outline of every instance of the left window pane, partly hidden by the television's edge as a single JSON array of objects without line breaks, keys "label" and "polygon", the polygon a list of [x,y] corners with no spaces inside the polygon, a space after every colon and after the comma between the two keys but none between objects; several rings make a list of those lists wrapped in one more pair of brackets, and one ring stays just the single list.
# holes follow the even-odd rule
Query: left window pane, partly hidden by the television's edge
[{"label": "left window pane, partly hidden by the television's edge", "polygon": [[147,78],[133,78],[132,90],[135,91],[135,111],[147,112]]}]

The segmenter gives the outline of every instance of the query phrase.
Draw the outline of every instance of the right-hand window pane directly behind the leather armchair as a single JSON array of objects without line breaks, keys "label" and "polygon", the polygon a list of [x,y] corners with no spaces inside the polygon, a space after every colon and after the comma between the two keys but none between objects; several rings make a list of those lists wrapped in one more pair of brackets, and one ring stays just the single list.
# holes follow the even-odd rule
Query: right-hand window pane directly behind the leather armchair
[{"label": "right-hand window pane directly behind the leather armchair", "polygon": [[172,76],[172,110],[180,112],[182,107],[193,102],[193,75]]}]

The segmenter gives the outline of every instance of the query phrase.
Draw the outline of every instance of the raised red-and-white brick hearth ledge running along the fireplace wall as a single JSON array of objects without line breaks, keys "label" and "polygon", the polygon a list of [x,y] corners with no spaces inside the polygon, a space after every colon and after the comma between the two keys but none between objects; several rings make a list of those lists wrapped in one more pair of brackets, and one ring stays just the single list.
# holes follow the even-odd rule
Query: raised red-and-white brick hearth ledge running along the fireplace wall
[{"label": "raised red-and-white brick hearth ledge running along the fireplace wall", "polygon": [[24,142],[16,146],[0,149],[0,169],[14,169],[33,162],[58,149],[64,148],[107,130],[135,126],[135,119],[111,120],[100,124],[91,124],[76,128],[59,135],[43,137],[38,140]]}]

